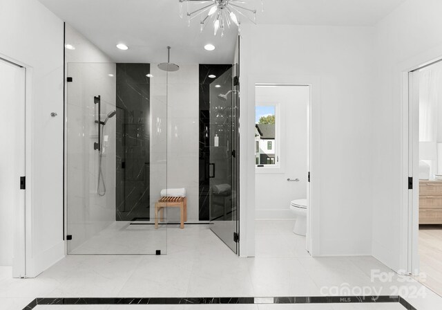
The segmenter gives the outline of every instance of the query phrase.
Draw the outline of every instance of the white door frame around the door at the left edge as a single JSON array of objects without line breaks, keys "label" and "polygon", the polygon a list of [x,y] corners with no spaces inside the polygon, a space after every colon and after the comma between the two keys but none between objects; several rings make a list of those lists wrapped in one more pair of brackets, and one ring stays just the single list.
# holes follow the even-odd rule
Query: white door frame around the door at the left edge
[{"label": "white door frame around the door at the left edge", "polygon": [[[31,149],[31,139],[28,139],[27,137],[31,134],[30,129],[30,84],[32,82],[32,69],[29,69],[28,66],[25,64],[22,64],[20,62],[17,62],[17,60],[14,60],[6,55],[0,54],[0,62],[7,62],[9,64],[12,64],[14,66],[17,66],[21,69],[23,74],[23,104],[24,106],[21,107],[21,111],[24,112],[23,115],[23,159],[24,159],[24,176],[26,176],[26,189],[24,190],[24,195],[21,197],[23,201],[21,202],[21,206],[18,210],[18,212],[15,214],[17,215],[17,218],[14,219],[14,231],[12,232],[12,236],[14,239],[13,247],[14,247],[14,257],[12,259],[12,277],[26,277],[27,275],[27,269],[26,265],[28,262],[28,248],[30,247],[30,244],[28,244],[28,240],[30,240],[30,199],[31,199],[31,182],[30,182],[30,176],[31,176],[31,154],[30,152],[27,152],[27,150]],[[17,181],[17,186],[19,185],[19,180]]]}]

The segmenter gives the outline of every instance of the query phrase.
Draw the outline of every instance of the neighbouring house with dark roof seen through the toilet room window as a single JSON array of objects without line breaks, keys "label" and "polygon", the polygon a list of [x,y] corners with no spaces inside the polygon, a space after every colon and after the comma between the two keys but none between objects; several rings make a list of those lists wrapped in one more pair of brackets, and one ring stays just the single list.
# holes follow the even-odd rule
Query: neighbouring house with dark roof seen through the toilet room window
[{"label": "neighbouring house with dark roof seen through the toilet room window", "polygon": [[275,125],[255,125],[256,165],[275,164]]}]

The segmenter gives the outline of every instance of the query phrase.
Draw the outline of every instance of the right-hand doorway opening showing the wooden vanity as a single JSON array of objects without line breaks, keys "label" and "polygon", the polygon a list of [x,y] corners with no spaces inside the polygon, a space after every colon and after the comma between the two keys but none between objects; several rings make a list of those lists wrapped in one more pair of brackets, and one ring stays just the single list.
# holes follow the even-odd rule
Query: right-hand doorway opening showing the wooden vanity
[{"label": "right-hand doorway opening showing the wooden vanity", "polygon": [[408,78],[410,270],[442,295],[442,62]]}]

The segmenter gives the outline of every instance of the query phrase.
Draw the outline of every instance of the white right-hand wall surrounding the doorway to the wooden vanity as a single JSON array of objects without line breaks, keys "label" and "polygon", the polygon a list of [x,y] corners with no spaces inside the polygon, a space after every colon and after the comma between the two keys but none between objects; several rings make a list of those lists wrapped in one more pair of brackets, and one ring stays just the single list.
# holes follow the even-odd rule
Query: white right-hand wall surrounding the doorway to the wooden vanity
[{"label": "white right-hand wall surrounding the doorway to the wooden vanity", "polygon": [[[401,200],[403,128],[402,72],[442,56],[442,1],[407,0],[376,26],[376,97],[373,165],[373,255],[398,271],[406,268],[407,227]],[[406,219],[405,219],[406,221]]]}]

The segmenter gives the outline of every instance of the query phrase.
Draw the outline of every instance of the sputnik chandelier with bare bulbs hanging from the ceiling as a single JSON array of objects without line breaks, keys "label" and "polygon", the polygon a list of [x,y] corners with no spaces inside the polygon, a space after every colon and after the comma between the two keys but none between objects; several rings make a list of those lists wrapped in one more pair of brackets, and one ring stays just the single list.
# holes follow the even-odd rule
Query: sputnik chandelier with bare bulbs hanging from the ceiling
[{"label": "sputnik chandelier with bare bulbs hanging from the ceiling", "polygon": [[[200,16],[200,31],[206,28],[207,24],[213,23],[213,35],[221,33],[224,37],[224,29],[230,28],[231,24],[238,27],[241,35],[241,19],[245,17],[253,24],[256,24],[256,10],[246,8],[247,0],[178,0],[180,1],[180,17],[183,17],[183,5],[186,3],[187,24],[191,26],[191,20]],[[261,0],[263,6],[264,0]],[[199,4],[200,8],[190,8],[193,4]]]}]

